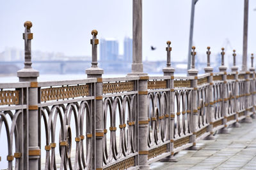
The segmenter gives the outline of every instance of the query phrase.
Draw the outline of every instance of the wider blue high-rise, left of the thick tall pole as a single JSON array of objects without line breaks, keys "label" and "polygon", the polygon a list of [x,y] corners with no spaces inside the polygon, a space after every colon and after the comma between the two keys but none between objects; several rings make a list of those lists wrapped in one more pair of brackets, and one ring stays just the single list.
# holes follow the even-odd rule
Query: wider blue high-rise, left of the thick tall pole
[{"label": "wider blue high-rise, left of the thick tall pole", "polygon": [[118,41],[116,39],[100,39],[100,60],[115,61],[118,58]]}]

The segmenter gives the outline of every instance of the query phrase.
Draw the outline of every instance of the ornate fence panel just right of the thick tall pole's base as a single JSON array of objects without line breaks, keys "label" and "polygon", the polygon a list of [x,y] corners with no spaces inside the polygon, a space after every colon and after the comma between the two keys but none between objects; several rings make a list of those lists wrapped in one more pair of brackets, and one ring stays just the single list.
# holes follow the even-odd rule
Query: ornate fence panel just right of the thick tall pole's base
[{"label": "ornate fence panel just right of the thick tall pole's base", "polygon": [[[170,155],[170,76],[148,80],[148,160]],[[165,156],[164,156],[165,155]]]}]

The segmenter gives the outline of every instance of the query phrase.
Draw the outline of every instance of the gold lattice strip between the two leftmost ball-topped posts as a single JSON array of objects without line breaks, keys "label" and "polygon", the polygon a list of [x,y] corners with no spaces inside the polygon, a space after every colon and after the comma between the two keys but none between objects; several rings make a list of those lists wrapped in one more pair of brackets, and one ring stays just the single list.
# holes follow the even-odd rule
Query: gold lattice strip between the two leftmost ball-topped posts
[{"label": "gold lattice strip between the two leftmost ball-topped posts", "polygon": [[68,87],[51,87],[41,89],[42,102],[81,96],[89,96],[89,85],[74,85]]}]

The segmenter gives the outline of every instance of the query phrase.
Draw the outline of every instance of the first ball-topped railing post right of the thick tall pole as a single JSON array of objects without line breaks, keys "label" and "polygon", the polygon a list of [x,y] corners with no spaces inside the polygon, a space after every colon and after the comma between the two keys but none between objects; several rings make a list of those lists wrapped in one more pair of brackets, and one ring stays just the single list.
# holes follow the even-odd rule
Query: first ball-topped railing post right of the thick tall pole
[{"label": "first ball-topped railing post right of the thick tall pole", "polygon": [[174,113],[174,80],[173,80],[173,74],[175,69],[171,66],[171,51],[172,47],[171,41],[166,42],[167,47],[166,47],[166,52],[167,52],[167,60],[166,60],[166,67],[163,69],[164,76],[170,76],[170,79],[168,80],[168,88],[170,89],[169,93],[169,107],[168,107],[168,115],[169,115],[169,122],[168,122],[168,127],[169,127],[169,139],[170,139],[170,145],[169,145],[169,152],[171,152],[171,155],[169,157],[166,157],[164,159],[161,159],[161,162],[176,162],[176,159],[173,157],[174,152],[173,152],[173,131],[174,131],[174,117],[171,115],[175,115]]}]

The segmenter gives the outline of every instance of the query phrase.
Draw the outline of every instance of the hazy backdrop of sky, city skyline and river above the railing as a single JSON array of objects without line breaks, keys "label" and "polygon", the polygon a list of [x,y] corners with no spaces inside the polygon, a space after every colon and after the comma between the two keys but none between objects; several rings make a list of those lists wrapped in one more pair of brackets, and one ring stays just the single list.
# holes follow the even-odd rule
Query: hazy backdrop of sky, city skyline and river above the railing
[{"label": "hazy backdrop of sky, city skyline and river above the railing", "polygon": [[[248,61],[256,42],[256,1],[249,3]],[[207,46],[211,46],[211,66],[218,71],[221,47],[225,66],[232,66],[232,50],[241,69],[243,53],[243,0],[199,0],[195,6],[193,45],[196,67],[204,73]],[[186,74],[188,62],[191,1],[143,1],[144,72],[163,74],[166,41],[172,41],[175,74]],[[31,32],[33,68],[40,77],[86,77],[91,64],[92,29],[99,31],[99,66],[104,76],[131,72],[132,1],[0,1],[0,81],[17,81],[16,72],[24,62],[24,22],[33,23]],[[153,50],[152,50],[153,49]],[[248,62],[248,66],[249,66]],[[230,70],[230,69],[229,69]],[[66,75],[66,76],[64,76]],[[74,76],[75,75],[75,76]]]}]

